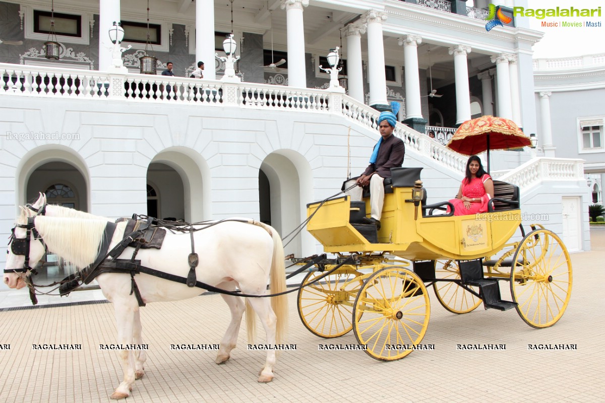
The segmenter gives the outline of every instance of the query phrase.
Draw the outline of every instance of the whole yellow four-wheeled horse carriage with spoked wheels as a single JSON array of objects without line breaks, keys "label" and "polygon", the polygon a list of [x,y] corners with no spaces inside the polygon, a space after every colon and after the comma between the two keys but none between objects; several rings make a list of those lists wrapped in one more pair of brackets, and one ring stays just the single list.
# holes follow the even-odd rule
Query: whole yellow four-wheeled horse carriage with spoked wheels
[{"label": "whole yellow four-wheeled horse carriage with spoked wheels", "polygon": [[[516,308],[533,327],[556,323],[571,295],[571,260],[560,237],[542,225],[525,233],[518,188],[494,181],[488,213],[453,216],[448,202],[426,204],[420,170],[391,169],[378,231],[361,224],[369,198],[307,206],[307,230],[337,257],[324,259],[302,283],[323,276],[298,292],[304,326],[324,338],[353,329],[373,358],[404,358],[422,347],[427,331],[425,283],[456,314],[483,303],[485,309]],[[511,242],[517,230],[522,239]],[[509,282],[511,301],[500,295],[503,282]]]}]

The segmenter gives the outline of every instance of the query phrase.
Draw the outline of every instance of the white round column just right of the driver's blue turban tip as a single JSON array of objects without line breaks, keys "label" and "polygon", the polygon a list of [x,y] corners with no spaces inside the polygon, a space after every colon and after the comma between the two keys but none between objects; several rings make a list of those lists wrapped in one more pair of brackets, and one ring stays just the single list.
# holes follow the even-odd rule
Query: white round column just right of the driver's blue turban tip
[{"label": "white round column just right of the driver's blue turban tip", "polygon": [[422,38],[417,35],[405,35],[399,39],[399,45],[404,45],[406,119],[422,118],[418,72],[418,45],[420,43],[422,43]]}]

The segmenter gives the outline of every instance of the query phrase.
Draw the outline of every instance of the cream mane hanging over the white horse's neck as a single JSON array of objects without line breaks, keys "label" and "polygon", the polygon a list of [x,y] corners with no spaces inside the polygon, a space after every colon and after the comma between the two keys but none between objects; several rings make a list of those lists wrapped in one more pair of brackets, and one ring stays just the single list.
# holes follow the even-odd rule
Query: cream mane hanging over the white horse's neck
[{"label": "cream mane hanging over the white horse's neck", "polygon": [[49,251],[82,269],[93,263],[99,254],[107,223],[98,218],[37,216],[35,224]]}]

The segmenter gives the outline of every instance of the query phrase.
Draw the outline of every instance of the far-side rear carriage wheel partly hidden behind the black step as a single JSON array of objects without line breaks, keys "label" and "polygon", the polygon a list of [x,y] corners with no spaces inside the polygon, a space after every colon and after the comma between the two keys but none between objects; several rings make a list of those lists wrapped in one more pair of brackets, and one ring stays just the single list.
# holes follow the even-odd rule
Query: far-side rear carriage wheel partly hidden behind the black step
[{"label": "far-side rear carriage wheel partly hidden behind the black step", "polygon": [[[437,279],[460,280],[460,269],[456,260],[435,260],[435,277]],[[479,294],[476,287],[469,286]],[[466,314],[481,305],[482,300],[454,282],[434,282],[433,290],[437,300],[454,314]]]}]

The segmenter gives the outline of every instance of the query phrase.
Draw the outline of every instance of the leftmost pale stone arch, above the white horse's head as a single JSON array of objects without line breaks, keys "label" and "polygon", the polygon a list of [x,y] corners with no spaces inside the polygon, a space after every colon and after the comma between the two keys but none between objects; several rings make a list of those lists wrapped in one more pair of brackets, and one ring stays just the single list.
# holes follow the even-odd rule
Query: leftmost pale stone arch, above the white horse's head
[{"label": "leftmost pale stone arch, above the white horse's head", "polygon": [[[46,170],[45,170],[46,167]],[[42,169],[42,171],[38,171]],[[50,169],[67,170],[70,178],[65,178],[65,173],[60,175],[50,174]],[[44,192],[51,182],[69,182],[76,191],[79,199],[77,208],[82,211],[90,211],[90,172],[88,166],[77,152],[60,144],[45,144],[29,150],[21,157],[16,167],[16,192],[15,206],[25,204],[28,199],[36,198],[38,192]],[[28,189],[30,179],[38,181],[36,189]],[[44,189],[42,189],[44,187]],[[83,189],[82,189],[83,188]]]}]

